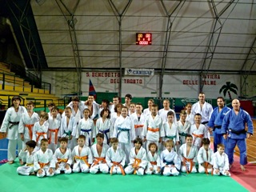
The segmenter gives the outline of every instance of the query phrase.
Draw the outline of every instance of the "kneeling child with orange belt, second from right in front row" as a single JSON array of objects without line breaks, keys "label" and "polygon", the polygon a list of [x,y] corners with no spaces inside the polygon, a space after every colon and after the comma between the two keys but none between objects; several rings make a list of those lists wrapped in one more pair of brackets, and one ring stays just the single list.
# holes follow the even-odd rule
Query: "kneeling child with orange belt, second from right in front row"
[{"label": "kneeling child with orange belt, second from right in front row", "polygon": [[210,149],[210,139],[202,138],[202,147],[198,151],[198,172],[200,174],[213,174],[213,159],[214,151]]}]

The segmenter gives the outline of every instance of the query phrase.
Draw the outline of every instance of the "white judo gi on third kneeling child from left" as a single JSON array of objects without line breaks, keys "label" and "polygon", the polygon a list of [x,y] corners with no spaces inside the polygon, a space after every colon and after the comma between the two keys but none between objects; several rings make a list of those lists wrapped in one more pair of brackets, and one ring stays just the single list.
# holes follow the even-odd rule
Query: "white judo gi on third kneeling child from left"
[{"label": "white judo gi on third kneeling child from left", "polygon": [[71,153],[71,150],[69,148],[66,148],[65,154],[62,154],[62,151],[61,151],[60,147],[57,150],[55,150],[54,161],[55,161],[56,164],[58,164],[58,168],[56,166],[54,174],[60,174],[61,171],[64,171],[65,174],[71,174],[72,173],[71,167],[68,170],[66,169],[66,164],[71,166],[72,162],[73,162],[72,153]]}]

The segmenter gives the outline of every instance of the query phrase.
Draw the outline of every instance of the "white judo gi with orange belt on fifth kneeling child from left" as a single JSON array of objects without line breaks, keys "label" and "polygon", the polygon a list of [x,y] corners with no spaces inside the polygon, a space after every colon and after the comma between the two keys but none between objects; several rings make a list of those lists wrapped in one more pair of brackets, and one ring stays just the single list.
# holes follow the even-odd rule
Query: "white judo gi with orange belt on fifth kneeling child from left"
[{"label": "white judo gi with orange belt on fifth kneeling child from left", "polygon": [[109,166],[106,164],[106,152],[110,148],[106,143],[103,143],[102,154],[98,155],[97,143],[90,147],[90,150],[94,157],[94,162],[90,166],[90,173],[96,174],[101,171],[103,174],[109,173]]}]

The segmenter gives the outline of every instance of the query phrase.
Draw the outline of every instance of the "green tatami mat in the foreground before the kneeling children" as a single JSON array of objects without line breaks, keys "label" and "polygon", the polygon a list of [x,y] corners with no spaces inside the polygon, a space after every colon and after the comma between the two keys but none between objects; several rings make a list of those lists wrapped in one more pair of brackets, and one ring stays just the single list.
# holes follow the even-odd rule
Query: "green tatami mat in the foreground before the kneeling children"
[{"label": "green tatami mat in the foreground before the kneeling children", "polygon": [[178,177],[158,175],[59,174],[37,178],[16,173],[18,162],[0,166],[1,192],[75,192],[75,191],[247,191],[232,178],[206,174],[188,174]]}]

